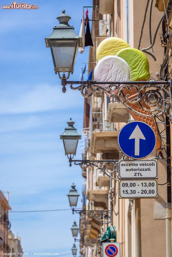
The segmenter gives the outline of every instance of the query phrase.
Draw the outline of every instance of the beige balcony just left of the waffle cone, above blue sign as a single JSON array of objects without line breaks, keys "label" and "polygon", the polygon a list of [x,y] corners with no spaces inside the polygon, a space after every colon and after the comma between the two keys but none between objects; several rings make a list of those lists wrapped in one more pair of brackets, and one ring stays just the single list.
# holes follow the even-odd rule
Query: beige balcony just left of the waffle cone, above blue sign
[{"label": "beige balcony just left of the waffle cone, above blue sign", "polygon": [[109,102],[107,111],[108,122],[125,122],[129,120],[128,109],[121,103]]}]

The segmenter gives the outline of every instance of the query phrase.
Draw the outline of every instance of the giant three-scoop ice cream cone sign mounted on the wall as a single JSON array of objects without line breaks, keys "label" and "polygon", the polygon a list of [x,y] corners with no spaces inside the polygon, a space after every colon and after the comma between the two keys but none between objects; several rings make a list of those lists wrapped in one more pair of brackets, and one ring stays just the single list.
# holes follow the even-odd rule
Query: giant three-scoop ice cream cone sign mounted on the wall
[{"label": "giant three-scoop ice cream cone sign mounted on the wall", "polygon": [[[97,48],[96,58],[98,61],[94,69],[94,80],[96,81],[146,81],[150,78],[149,62],[145,54],[138,49],[131,48],[123,39],[111,37],[103,40]],[[125,83],[118,89],[115,86],[111,87],[111,93],[118,94],[124,85]],[[109,85],[101,86],[107,88]],[[138,96],[136,88],[132,87],[132,90],[129,90],[124,87],[122,93],[130,100],[130,102],[126,102],[129,107],[136,112],[149,114],[139,103],[133,102]],[[108,92],[106,94],[110,95]],[[123,99],[125,101],[125,98]],[[149,108],[144,105],[143,103],[143,107]],[[153,118],[143,117],[132,111],[129,112],[135,121],[143,121],[152,127],[156,135],[156,149],[159,149],[161,143]]]}]

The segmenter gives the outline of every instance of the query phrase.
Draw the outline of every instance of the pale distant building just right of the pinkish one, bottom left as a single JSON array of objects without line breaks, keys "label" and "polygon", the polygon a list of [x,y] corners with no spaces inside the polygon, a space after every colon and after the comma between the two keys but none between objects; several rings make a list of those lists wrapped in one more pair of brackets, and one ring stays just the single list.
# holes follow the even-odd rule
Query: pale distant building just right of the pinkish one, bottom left
[{"label": "pale distant building just right of the pinkish one, bottom left", "polygon": [[18,253],[23,253],[20,236],[15,237],[11,230],[8,232],[8,244],[10,246],[11,254],[16,253],[15,256],[20,256]]}]

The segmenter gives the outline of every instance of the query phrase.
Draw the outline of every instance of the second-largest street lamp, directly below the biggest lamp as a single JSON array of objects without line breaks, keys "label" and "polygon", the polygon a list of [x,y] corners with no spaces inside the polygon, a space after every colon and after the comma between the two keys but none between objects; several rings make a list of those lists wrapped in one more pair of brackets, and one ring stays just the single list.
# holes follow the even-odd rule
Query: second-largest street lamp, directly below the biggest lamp
[{"label": "second-largest street lamp, directly below the biggest lamp", "polygon": [[[60,135],[60,139],[63,139],[65,155],[67,155],[68,159],[72,159],[74,157],[74,155],[76,154],[78,140],[81,139],[81,135],[78,133],[76,128],[74,128],[74,126],[73,126],[74,123],[75,122],[72,121],[72,118],[70,118],[70,121],[67,122],[68,127],[65,128],[64,133]],[[68,157],[68,155],[70,157]],[[71,155],[73,155],[73,157],[71,157]]]}]

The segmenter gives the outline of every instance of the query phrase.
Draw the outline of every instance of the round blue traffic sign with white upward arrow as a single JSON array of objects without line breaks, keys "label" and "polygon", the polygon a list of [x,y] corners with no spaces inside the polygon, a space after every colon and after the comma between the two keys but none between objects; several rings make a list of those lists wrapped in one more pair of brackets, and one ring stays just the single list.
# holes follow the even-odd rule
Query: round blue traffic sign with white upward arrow
[{"label": "round blue traffic sign with white upward arrow", "polygon": [[121,151],[133,159],[150,155],[156,145],[156,136],[148,124],[141,121],[127,123],[119,131],[118,144]]}]

